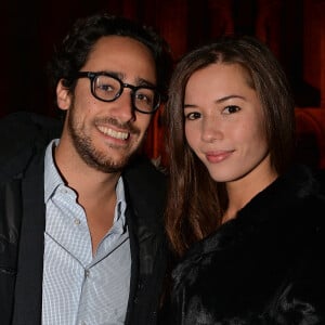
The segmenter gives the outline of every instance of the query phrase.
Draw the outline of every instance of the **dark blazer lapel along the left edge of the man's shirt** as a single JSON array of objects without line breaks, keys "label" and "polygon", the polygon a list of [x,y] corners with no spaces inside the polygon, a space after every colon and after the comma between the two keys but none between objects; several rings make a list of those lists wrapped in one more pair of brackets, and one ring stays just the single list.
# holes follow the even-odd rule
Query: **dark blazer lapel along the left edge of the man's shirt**
[{"label": "dark blazer lapel along the left edge of the man's shirt", "polygon": [[46,227],[43,186],[43,156],[41,156],[30,166],[22,184],[23,220],[13,325],[41,324]]}]

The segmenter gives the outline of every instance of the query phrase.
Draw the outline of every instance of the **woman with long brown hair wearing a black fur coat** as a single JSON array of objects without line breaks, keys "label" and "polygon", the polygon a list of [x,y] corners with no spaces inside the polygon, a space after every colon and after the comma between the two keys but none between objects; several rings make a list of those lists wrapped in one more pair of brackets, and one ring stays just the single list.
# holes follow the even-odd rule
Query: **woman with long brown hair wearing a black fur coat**
[{"label": "woman with long brown hair wearing a black fur coat", "polygon": [[291,164],[294,102],[271,51],[229,37],[185,55],[166,106],[164,324],[325,324],[325,199]]}]

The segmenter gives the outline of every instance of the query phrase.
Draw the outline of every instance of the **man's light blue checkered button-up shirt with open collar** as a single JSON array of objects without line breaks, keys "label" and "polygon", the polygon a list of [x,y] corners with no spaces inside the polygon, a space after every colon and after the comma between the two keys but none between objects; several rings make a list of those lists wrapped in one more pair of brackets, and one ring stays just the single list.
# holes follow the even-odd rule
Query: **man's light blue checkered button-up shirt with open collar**
[{"label": "man's light blue checkered button-up shirt with open collar", "polygon": [[[93,255],[87,217],[46,153],[42,325],[123,324],[130,287],[130,243],[120,178],[114,224]],[[82,176],[80,176],[82,177]]]}]

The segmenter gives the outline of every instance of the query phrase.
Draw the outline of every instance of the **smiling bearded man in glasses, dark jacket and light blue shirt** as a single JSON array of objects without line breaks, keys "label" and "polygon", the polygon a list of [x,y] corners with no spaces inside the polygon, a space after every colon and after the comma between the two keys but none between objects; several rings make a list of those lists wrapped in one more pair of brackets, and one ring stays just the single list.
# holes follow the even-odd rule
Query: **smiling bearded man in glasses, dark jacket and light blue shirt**
[{"label": "smiling bearded man in glasses, dark jacket and light blue shirt", "polygon": [[138,153],[169,67],[151,29],[80,20],[51,64],[62,131],[0,121],[2,325],[156,323],[165,178]]}]

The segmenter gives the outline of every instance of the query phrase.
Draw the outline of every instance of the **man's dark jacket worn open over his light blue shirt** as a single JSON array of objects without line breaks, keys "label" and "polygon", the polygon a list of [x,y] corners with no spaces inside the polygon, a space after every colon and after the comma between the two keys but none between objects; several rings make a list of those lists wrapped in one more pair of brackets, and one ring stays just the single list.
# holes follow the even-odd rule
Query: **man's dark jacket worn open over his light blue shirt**
[{"label": "man's dark jacket worn open over his light blue shirt", "polygon": [[[41,324],[44,150],[61,123],[28,113],[0,120],[0,323]],[[122,174],[130,232],[126,324],[156,324],[166,268],[165,177],[145,158]]]}]

